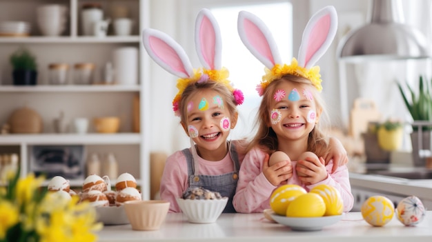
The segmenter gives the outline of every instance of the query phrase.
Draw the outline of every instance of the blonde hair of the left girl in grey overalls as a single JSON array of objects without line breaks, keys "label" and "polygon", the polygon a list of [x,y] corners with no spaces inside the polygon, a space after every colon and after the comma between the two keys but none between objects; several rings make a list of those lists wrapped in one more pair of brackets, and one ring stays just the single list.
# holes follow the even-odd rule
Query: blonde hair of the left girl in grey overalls
[{"label": "blonde hair of the left girl in grey overalls", "polygon": [[204,90],[213,90],[217,92],[224,100],[224,107],[228,109],[228,112],[230,113],[230,119],[233,119],[233,114],[237,112],[237,106],[233,92],[228,90],[226,85],[223,85],[222,83],[216,81],[202,81],[191,83],[181,94],[181,101],[179,103],[181,123],[184,123],[185,125],[188,123],[188,102],[190,99],[194,94]]}]

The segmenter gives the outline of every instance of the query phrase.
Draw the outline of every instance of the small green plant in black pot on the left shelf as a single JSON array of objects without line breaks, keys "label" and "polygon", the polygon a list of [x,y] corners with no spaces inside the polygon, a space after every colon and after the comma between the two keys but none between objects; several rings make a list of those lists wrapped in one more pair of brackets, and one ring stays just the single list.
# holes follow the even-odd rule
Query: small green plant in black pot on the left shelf
[{"label": "small green plant in black pot on the left shelf", "polygon": [[14,85],[36,85],[36,57],[26,48],[19,48],[10,55]]}]

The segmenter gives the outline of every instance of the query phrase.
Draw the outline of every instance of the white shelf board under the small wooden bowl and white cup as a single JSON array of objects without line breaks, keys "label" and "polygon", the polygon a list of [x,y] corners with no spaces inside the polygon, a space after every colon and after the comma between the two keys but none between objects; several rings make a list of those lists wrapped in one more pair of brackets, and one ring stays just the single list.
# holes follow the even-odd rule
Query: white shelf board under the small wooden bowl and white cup
[{"label": "white shelf board under the small wooden bowl and white cup", "polygon": [[0,145],[108,145],[139,144],[139,133],[117,134],[1,134]]}]

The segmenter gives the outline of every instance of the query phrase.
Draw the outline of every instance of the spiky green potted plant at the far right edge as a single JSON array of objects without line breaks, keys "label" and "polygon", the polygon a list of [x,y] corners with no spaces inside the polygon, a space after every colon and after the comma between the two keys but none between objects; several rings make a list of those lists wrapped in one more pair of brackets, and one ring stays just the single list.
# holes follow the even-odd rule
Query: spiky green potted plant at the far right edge
[{"label": "spiky green potted plant at the far right edge", "polygon": [[[405,83],[405,85],[406,88],[408,88],[408,92],[404,91],[401,83],[397,83],[406,108],[409,110],[414,121],[413,132],[411,133],[413,162],[415,166],[424,166],[426,161],[423,157],[420,157],[420,150],[424,148],[429,150],[431,147],[432,123],[427,123],[432,121],[432,83],[427,83],[424,78],[420,76],[417,90],[414,90],[408,83]],[[426,125],[419,126],[418,123]],[[420,130],[419,127],[421,127]],[[420,142],[422,143],[422,147],[420,147]]]}]

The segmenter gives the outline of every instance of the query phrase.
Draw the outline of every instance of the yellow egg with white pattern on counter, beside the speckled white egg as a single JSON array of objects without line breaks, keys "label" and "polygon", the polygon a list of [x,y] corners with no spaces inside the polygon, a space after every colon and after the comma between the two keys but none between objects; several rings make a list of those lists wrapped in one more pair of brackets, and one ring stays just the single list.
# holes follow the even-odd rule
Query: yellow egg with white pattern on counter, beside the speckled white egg
[{"label": "yellow egg with white pattern on counter, beside the speckled white egg", "polygon": [[393,219],[395,206],[385,196],[371,196],[362,204],[364,221],[373,226],[384,226]]}]

